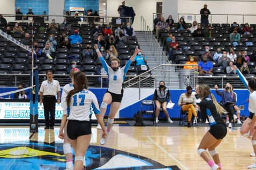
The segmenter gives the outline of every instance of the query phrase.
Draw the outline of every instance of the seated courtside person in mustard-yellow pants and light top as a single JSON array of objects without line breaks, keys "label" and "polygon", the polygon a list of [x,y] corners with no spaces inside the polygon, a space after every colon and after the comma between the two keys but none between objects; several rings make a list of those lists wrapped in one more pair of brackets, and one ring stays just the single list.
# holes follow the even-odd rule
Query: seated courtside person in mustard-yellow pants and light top
[{"label": "seated courtside person in mustard-yellow pants and light top", "polygon": [[181,106],[182,111],[188,111],[188,128],[191,127],[192,114],[197,118],[197,122],[199,122],[195,108],[196,97],[195,94],[192,94],[191,86],[186,87],[186,93],[182,93],[179,97],[178,106]]}]

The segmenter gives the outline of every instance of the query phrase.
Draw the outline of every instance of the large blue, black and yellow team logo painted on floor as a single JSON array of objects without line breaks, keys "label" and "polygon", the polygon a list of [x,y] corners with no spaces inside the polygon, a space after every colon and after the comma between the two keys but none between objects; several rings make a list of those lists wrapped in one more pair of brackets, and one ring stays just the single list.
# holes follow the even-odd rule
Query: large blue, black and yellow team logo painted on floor
[{"label": "large blue, black and yellow team logo painted on floor", "polygon": [[[62,143],[9,143],[0,145],[0,169],[65,169]],[[177,170],[136,154],[90,145],[86,152],[86,169],[147,169]]]}]

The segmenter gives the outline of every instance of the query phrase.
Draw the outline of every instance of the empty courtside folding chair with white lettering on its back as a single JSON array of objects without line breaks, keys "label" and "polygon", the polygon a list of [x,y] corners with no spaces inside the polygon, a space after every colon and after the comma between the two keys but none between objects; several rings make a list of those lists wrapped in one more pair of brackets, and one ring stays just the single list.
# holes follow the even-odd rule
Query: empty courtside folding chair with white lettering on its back
[{"label": "empty courtside folding chair with white lettering on its back", "polygon": [[142,100],[141,115],[152,115],[153,125],[155,124],[155,102],[153,100]]}]

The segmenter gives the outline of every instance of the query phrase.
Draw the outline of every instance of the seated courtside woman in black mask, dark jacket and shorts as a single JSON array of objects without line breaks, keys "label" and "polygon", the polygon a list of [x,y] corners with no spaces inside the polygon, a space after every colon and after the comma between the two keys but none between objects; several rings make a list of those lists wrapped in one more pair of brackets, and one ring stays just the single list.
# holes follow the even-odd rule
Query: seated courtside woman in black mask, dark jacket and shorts
[{"label": "seated courtside woman in black mask, dark jacket and shorts", "polygon": [[169,123],[174,123],[172,122],[172,120],[170,119],[169,113],[167,111],[167,103],[169,102],[171,103],[171,95],[170,95],[170,91],[169,88],[165,87],[165,83],[163,81],[161,81],[159,83],[159,87],[156,88],[154,96],[153,96],[153,101],[155,101],[156,104],[156,123],[158,123],[158,116],[160,113],[160,108],[162,106],[163,112],[165,114],[165,116],[168,119]]}]

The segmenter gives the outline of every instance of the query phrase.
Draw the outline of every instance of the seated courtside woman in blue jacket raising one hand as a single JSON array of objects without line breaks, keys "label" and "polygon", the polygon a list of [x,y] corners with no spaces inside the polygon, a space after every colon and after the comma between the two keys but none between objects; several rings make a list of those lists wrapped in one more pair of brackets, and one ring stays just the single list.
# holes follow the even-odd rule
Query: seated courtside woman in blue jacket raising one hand
[{"label": "seated courtside woman in blue jacket raising one hand", "polygon": [[229,128],[232,128],[231,119],[234,115],[234,105],[236,105],[236,94],[233,92],[231,85],[226,84],[225,90],[219,91],[217,85],[215,85],[216,93],[222,97],[222,107],[228,112],[226,124],[229,124]]}]

